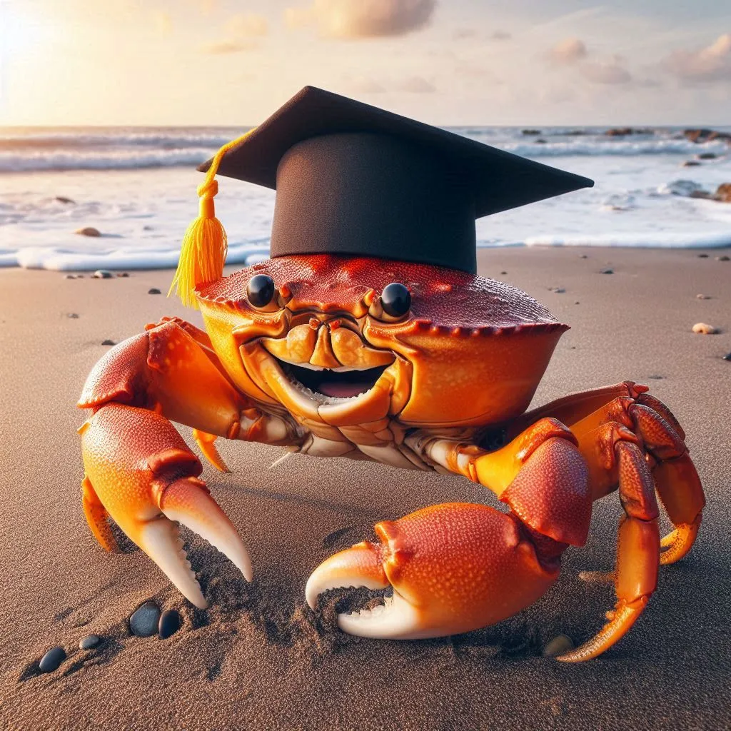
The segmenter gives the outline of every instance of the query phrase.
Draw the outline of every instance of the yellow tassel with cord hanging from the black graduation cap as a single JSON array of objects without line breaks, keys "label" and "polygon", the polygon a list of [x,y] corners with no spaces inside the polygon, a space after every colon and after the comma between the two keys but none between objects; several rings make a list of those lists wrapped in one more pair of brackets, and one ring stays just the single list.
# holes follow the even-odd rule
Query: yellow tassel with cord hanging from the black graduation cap
[{"label": "yellow tassel with cord hanging from the black graduation cap", "polygon": [[251,132],[253,130],[225,144],[213,156],[211,167],[208,168],[208,173],[205,175],[205,181],[198,186],[200,213],[183,236],[178,269],[175,271],[173,284],[170,284],[170,290],[167,292],[167,296],[170,297],[175,289],[183,305],[188,307],[198,308],[194,292],[196,287],[221,279],[223,276],[228,239],[221,221],[216,218],[216,207],[213,205],[213,197],[219,192],[219,183],[215,178],[224,154],[234,145],[238,145]]}]

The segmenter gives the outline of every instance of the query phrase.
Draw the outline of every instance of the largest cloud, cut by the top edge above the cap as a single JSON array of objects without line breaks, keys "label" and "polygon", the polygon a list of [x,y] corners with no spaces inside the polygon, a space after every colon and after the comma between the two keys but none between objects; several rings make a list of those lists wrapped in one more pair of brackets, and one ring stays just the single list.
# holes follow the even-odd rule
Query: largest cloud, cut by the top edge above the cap
[{"label": "largest cloud, cut by the top edge above the cap", "polygon": [[317,26],[330,38],[401,36],[428,25],[436,0],[313,0],[309,7],[289,7],[289,28]]}]

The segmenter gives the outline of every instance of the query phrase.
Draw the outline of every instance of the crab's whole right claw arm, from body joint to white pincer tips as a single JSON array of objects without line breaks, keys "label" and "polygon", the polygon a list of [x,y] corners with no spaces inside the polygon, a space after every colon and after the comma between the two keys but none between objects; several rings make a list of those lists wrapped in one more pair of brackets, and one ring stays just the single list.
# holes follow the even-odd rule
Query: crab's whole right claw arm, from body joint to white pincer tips
[{"label": "crab's whole right claw arm, from body joint to white pincer tips", "polygon": [[544,594],[558,577],[569,542],[586,539],[591,518],[586,465],[566,428],[547,420],[500,454],[424,440],[414,442],[424,455],[479,473],[512,512],[469,503],[433,505],[378,523],[380,545],[363,542],[328,558],[306,586],[313,608],[330,588],[393,586],[385,606],[339,615],[345,632],[414,639],[494,624]]}]

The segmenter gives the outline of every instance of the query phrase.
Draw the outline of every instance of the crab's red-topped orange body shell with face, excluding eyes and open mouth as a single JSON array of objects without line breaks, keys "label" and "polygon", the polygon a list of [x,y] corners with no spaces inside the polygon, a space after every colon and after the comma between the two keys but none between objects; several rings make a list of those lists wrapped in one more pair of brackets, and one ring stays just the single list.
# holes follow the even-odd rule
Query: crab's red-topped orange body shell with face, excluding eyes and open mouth
[{"label": "crab's red-topped orange body shell with face, excluding eyes and open mouth", "polygon": [[[252,276],[277,288],[270,306],[246,297]],[[401,282],[412,308],[383,314],[382,290]],[[501,423],[529,405],[568,329],[500,281],[425,264],[328,254],[278,257],[197,291],[208,334],[238,388],[303,425],[421,428]],[[357,398],[317,400],[292,387],[287,364],[334,371],[381,368]],[[379,371],[369,371],[370,373]]]}]

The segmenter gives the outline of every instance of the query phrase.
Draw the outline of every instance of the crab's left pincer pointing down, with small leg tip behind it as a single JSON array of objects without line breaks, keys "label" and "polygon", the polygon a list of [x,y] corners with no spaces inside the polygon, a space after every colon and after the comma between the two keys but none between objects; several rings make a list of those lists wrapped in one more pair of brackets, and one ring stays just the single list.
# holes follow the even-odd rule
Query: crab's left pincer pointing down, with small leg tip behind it
[{"label": "crab's left pincer pointing down, with small leg tip behind it", "polygon": [[198,479],[199,459],[167,419],[135,406],[107,404],[84,423],[80,433],[86,515],[104,548],[113,547],[104,529],[108,514],[183,596],[205,608],[208,604],[178,539],[175,522],[182,523],[251,580],[243,542],[205,482]]}]

